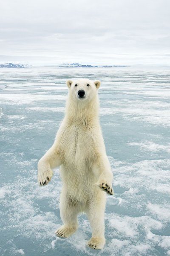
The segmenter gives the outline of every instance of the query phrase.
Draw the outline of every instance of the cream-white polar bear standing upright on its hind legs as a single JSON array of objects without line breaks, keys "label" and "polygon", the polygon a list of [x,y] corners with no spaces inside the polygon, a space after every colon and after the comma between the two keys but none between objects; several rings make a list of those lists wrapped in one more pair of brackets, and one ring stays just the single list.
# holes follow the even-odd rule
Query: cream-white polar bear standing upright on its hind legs
[{"label": "cream-white polar bear standing upright on its hind legs", "polygon": [[65,117],[51,148],[38,162],[38,183],[47,185],[60,166],[62,192],[60,215],[63,226],[55,234],[67,238],[78,228],[77,215],[85,212],[92,237],[87,245],[102,249],[105,244],[106,193],[113,195],[113,174],[99,125],[100,81],[67,80]]}]

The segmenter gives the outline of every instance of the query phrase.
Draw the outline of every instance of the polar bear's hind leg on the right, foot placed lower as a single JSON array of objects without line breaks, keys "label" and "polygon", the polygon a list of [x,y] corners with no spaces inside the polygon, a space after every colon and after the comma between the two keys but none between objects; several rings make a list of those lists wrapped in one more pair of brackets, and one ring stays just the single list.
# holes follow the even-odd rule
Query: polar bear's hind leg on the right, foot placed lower
[{"label": "polar bear's hind leg on the right, foot placed lower", "polygon": [[105,195],[100,193],[93,201],[89,201],[86,213],[91,224],[92,237],[88,247],[102,249],[105,245]]}]

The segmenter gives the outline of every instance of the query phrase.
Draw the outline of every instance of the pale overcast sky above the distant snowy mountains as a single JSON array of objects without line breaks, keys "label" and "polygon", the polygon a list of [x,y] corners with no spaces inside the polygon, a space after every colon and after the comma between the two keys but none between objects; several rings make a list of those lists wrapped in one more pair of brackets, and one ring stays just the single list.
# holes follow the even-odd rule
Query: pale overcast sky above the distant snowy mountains
[{"label": "pale overcast sky above the distant snowy mountains", "polygon": [[5,62],[170,64],[170,0],[2,0]]}]

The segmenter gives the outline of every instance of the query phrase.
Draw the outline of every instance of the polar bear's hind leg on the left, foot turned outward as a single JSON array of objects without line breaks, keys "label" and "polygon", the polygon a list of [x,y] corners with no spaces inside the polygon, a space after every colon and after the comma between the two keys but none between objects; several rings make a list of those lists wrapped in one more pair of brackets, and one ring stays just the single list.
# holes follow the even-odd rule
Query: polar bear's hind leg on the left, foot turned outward
[{"label": "polar bear's hind leg on the left, foot turned outward", "polygon": [[63,224],[55,231],[56,236],[67,238],[78,228],[77,215],[80,212],[79,204],[71,200],[65,192],[62,192],[59,209]]}]

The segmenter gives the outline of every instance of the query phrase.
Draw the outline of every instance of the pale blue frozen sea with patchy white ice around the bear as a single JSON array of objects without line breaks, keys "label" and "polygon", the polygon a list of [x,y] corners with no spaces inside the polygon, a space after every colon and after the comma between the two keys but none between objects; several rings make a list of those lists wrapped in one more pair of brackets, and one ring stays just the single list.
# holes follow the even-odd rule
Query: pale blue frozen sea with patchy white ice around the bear
[{"label": "pale blue frozen sea with patchy white ice around the bear", "polygon": [[[114,174],[107,196],[105,248],[85,246],[79,215],[68,239],[54,231],[59,170],[37,184],[37,162],[62,122],[66,79],[102,81],[100,123]],[[0,69],[0,256],[170,255],[170,73],[128,68]]]}]

